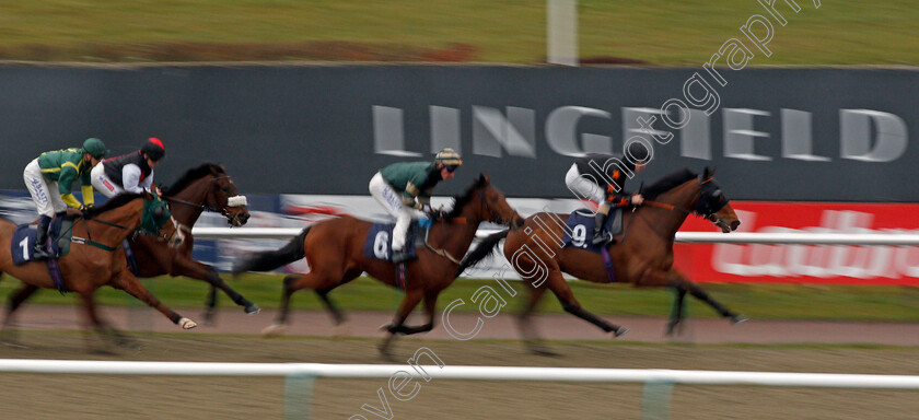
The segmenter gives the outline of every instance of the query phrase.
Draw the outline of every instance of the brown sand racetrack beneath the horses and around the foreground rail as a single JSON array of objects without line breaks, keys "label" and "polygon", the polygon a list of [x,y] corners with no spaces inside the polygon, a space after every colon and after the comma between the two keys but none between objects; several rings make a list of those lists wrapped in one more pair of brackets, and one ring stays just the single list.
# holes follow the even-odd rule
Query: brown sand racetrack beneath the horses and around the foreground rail
[{"label": "brown sand racetrack beneath the horses and around the foreground rail", "polygon": [[[119,310],[105,311],[106,317],[121,327],[139,323],[131,322],[130,316],[123,317]],[[610,340],[601,335],[581,341],[551,342],[551,348],[561,354],[559,358],[532,355],[513,340],[515,332],[507,332],[503,340],[400,339],[394,348],[396,360],[391,362],[379,355],[376,338],[295,336],[266,339],[224,335],[225,329],[245,330],[234,313],[221,313],[218,326],[202,326],[191,331],[177,331],[173,326],[175,334],[133,332],[142,343],[139,349],[113,348],[114,352],[101,353],[88,352],[88,346],[103,348],[95,336],[86,338],[80,331],[61,330],[68,328],[60,328],[60,323],[79,320],[73,308],[31,306],[23,311],[21,324],[25,330],[20,337],[28,348],[0,347],[0,358],[398,364],[405,363],[419,347],[428,347],[447,365],[919,374],[919,347],[912,342],[917,338],[917,327],[908,324],[786,323],[782,326],[754,320],[749,325],[732,327],[723,320],[699,319],[690,324],[684,338],[651,341],[641,337],[652,334],[640,329],[662,325],[663,320],[645,319],[649,326],[643,327],[637,320],[629,324],[632,319],[626,319],[623,324],[629,325],[639,339],[629,340],[627,335],[621,340]],[[363,330],[359,320],[371,322],[363,316],[373,320],[373,316],[388,318],[389,315],[352,314],[352,329]],[[264,319],[259,319],[261,317]],[[501,316],[495,319],[499,318]],[[270,322],[270,314],[248,319],[265,325]],[[295,323],[312,324],[307,319],[327,323],[324,315],[313,313],[296,314]],[[140,323],[158,324],[156,320]],[[544,332],[550,337],[561,334],[552,332],[556,330],[552,323],[577,329],[580,322],[570,316],[540,318]],[[714,331],[705,332],[710,328]],[[771,340],[776,342],[789,342],[782,337],[803,334],[799,331],[802,328],[811,329],[811,340],[796,341],[814,343],[731,343],[744,341],[743,338],[709,343],[706,338],[712,334],[730,337],[732,331],[737,337],[745,337],[749,332],[744,332],[744,328],[753,329],[763,342],[770,341],[763,331],[773,331]],[[840,336],[853,337],[851,342],[864,342],[858,338],[861,330],[899,331],[903,343],[897,346],[884,340],[881,341],[888,346],[821,343],[835,342],[821,337],[835,337],[837,328],[844,329],[838,331]],[[438,327],[438,330],[442,331],[442,328]],[[660,329],[655,329],[653,336],[659,337]],[[386,386],[385,380],[318,380],[313,386],[313,418],[349,419],[362,415],[376,419],[362,411],[361,406],[382,407],[376,390]],[[281,378],[3,373],[0,374],[0,387],[3,389],[0,419],[4,420],[281,419],[284,413],[284,382]],[[424,383],[414,399],[398,401],[389,397],[388,404],[394,419],[640,419],[642,393],[640,385],[621,384],[432,381]],[[674,388],[671,408],[673,419],[917,419],[919,392],[679,385]]]}]

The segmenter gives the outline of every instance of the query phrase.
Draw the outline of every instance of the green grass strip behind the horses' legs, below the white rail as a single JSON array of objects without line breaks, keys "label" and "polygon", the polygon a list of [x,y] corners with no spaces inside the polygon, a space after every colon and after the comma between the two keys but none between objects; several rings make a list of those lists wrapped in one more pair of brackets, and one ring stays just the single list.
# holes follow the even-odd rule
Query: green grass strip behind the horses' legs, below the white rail
[{"label": "green grass strip behind the horses' legs, below the white rail", "polygon": [[[278,307],[281,295],[281,275],[244,275],[239,279],[224,276],[230,287],[261,307]],[[207,284],[186,278],[155,278],[143,283],[165,304],[173,307],[201,307]],[[20,282],[4,276],[0,281],[0,300],[7,296]],[[525,291],[520,282],[511,282],[516,295],[511,296],[495,280],[458,279],[445,290],[438,301],[438,308],[462,299],[466,304],[456,311],[478,311],[472,296],[482,287],[491,287],[505,301],[503,311],[515,312],[525,302]],[[578,301],[591,312],[605,315],[667,316],[673,302],[670,289],[636,289],[623,284],[595,284],[583,281],[570,282]],[[728,307],[758,319],[826,319],[869,322],[917,322],[919,320],[919,288],[909,287],[858,287],[858,285],[803,285],[803,284],[729,284],[701,283],[714,299]],[[345,311],[395,311],[403,298],[402,291],[384,285],[370,278],[359,278],[330,294]],[[75,295],[60,295],[56,291],[43,290],[31,303],[74,304]],[[97,301],[103,305],[142,305],[140,301],[112,288],[102,288]],[[322,304],[312,292],[293,295],[293,307],[298,310],[322,310]],[[687,314],[691,317],[716,316],[716,313],[686,298]],[[234,304],[220,294],[220,305]],[[420,308],[419,308],[420,310]],[[546,293],[542,312],[560,313],[561,306],[551,293]]]}]

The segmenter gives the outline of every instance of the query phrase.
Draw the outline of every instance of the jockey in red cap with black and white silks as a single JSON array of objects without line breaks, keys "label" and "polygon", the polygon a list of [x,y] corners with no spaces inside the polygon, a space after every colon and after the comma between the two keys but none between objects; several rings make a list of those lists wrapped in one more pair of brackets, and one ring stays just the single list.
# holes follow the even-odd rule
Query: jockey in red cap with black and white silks
[{"label": "jockey in red cap with black and white silks", "polygon": [[151,191],[153,186],[153,168],[166,154],[166,149],[160,139],[151,138],[140,150],[106,159],[93,168],[93,187],[105,197],[113,197],[121,192],[140,194]]}]

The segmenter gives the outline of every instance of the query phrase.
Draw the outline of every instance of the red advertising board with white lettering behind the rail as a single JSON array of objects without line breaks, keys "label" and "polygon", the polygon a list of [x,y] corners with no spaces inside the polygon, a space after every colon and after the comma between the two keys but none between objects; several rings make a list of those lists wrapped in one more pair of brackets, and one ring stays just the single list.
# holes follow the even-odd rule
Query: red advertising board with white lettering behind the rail
[{"label": "red advertising board with white lettering behind the rail", "polygon": [[[732,201],[737,232],[919,233],[919,205]],[[680,231],[720,230],[689,217]],[[695,281],[919,285],[919,247],[677,244]]]}]

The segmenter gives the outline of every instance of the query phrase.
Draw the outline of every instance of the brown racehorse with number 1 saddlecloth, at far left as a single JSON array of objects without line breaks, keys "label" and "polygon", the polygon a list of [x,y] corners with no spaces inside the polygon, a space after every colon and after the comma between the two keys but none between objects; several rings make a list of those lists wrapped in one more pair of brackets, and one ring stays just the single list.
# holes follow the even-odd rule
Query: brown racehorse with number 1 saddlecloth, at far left
[{"label": "brown racehorse with number 1 saddlecloth, at far left", "polygon": [[[113,252],[129,235],[140,233],[156,235],[173,247],[181,246],[184,234],[178,229],[178,223],[170,215],[165,202],[148,192],[121,195],[90,210],[89,215],[89,220],[79,218],[73,222],[74,241],[71,243],[70,253],[58,259],[58,266],[65,287],[80,294],[89,320],[96,330],[103,337],[113,338],[118,345],[130,343],[127,337],[107,327],[96,314],[93,294],[102,285],[124,290],[155,307],[182,328],[196,327],[191,319],[160,303],[128,270],[125,255]],[[0,246],[0,272],[35,288],[55,289],[46,261],[13,265],[9,244],[15,228],[12,222],[0,220],[0,244],[5,244]],[[13,318],[10,315],[3,320],[4,330],[12,324]]]}]

